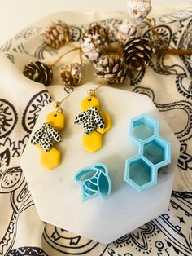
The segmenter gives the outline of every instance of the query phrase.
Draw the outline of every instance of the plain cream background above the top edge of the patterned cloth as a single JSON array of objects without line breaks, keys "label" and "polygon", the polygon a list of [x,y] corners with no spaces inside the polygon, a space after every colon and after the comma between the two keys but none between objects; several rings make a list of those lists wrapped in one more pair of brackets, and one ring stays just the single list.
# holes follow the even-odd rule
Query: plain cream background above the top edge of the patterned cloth
[{"label": "plain cream background above the top edge of the patterned cloth", "polygon": [[[0,45],[45,15],[62,11],[125,11],[127,0],[0,0]],[[192,0],[151,0],[151,15],[192,6]]]}]

